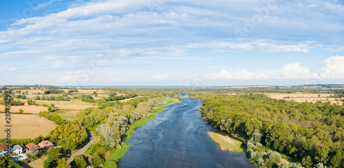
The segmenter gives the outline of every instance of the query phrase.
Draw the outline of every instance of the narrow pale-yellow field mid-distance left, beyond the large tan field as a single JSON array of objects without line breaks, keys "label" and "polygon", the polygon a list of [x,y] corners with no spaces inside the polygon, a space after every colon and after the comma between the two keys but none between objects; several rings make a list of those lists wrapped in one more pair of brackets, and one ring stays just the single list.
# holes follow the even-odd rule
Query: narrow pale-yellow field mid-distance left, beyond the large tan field
[{"label": "narrow pale-yellow field mid-distance left, beyond the large tan field", "polygon": [[94,103],[83,102],[77,99],[71,99],[70,101],[36,101],[36,104],[54,104],[58,109],[85,109],[87,107],[98,107],[98,105],[93,105]]}]

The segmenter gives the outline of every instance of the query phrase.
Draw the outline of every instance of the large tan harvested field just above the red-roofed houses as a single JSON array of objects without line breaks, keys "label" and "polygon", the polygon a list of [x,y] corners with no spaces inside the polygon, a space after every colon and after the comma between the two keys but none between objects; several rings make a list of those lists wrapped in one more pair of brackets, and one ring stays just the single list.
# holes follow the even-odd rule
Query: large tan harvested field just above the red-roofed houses
[{"label": "large tan harvested field just above the red-roofed houses", "polygon": [[[33,114],[11,114],[10,120],[11,138],[36,138],[37,136],[47,136],[57,125],[44,118],[43,116]],[[6,117],[4,113],[0,114],[0,129],[6,130]],[[3,131],[2,131],[3,132]],[[0,138],[6,138],[6,134],[1,133]]]}]

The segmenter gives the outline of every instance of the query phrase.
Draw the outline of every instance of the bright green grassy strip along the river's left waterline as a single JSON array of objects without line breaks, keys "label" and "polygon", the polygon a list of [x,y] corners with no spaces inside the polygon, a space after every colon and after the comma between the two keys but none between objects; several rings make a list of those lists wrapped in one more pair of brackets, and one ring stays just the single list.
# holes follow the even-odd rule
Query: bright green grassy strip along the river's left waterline
[{"label": "bright green grassy strip along the river's left waterline", "polygon": [[[171,103],[167,103],[166,105],[171,105],[173,103],[178,103],[179,101],[175,101],[175,102],[171,102]],[[140,119],[138,121],[136,121],[135,123],[133,123],[132,125],[130,125],[129,129],[127,130],[127,132],[125,132],[125,134],[127,135],[127,138],[125,138],[125,140],[123,140],[123,143],[126,143],[127,140],[129,140],[131,138],[131,133],[134,133],[134,129],[136,129],[137,127],[140,127],[142,125],[144,125],[145,123],[147,123],[149,120],[152,120],[153,118],[155,118],[155,116],[158,115],[158,112],[162,112],[165,109],[162,108],[166,105],[159,105],[158,109],[153,111],[153,115],[150,116],[149,118],[144,118],[144,119]],[[125,156],[125,153],[127,152],[127,149],[130,145],[122,145],[122,148],[120,149],[114,149],[112,151],[110,151],[110,156],[109,158],[107,158],[107,160],[105,161],[105,167],[117,167],[116,162],[118,161],[118,159],[122,158],[123,156]]]}]

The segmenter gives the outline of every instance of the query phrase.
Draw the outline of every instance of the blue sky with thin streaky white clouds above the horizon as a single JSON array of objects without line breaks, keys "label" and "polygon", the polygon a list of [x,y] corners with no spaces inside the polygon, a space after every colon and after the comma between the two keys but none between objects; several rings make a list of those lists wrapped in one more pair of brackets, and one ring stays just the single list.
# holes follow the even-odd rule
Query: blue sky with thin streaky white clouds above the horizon
[{"label": "blue sky with thin streaky white clouds above the horizon", "polygon": [[344,84],[343,1],[0,6],[0,85]]}]

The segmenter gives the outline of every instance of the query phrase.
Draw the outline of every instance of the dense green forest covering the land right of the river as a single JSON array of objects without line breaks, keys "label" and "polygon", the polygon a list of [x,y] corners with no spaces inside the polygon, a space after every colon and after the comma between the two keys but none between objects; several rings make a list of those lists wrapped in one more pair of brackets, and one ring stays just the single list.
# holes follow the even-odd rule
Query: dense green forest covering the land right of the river
[{"label": "dense green forest covering the land right of the river", "polygon": [[344,167],[343,105],[320,101],[295,103],[264,94],[198,92],[191,96],[200,98],[200,112],[209,123],[234,136],[250,139],[248,155],[259,160],[261,166],[274,166],[269,159],[264,162],[262,158],[261,145],[264,145],[290,156],[303,167]]}]

